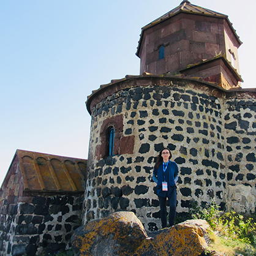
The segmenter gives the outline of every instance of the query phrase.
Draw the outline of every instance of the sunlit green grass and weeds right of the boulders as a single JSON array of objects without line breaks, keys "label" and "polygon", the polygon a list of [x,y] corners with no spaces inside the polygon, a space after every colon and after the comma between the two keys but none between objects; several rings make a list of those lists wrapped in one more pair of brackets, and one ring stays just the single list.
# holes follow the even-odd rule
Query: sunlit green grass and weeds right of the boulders
[{"label": "sunlit green grass and weeds right of the boulders", "polygon": [[205,219],[211,225],[213,232],[209,232],[209,251],[225,256],[256,256],[255,214],[223,213],[213,200],[203,207],[192,201],[188,215],[189,219]]}]

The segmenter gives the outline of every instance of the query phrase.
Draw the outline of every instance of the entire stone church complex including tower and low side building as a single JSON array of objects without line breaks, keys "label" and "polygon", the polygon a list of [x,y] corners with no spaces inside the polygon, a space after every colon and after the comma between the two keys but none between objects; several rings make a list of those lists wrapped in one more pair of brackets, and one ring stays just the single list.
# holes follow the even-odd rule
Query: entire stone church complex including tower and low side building
[{"label": "entire stone church complex including tower and low side building", "polygon": [[88,96],[87,162],[16,152],[0,192],[0,255],[67,249],[78,220],[120,210],[159,229],[152,171],[164,147],[179,167],[178,214],[193,200],[254,213],[256,89],[241,88],[241,43],[227,15],[187,0],[143,27],[140,75]]}]

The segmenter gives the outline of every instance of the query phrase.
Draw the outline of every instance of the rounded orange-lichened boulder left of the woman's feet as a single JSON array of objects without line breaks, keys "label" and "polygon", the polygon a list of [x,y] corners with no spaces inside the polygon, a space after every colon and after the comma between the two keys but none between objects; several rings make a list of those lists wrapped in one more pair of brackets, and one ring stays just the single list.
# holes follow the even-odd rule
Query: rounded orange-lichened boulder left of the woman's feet
[{"label": "rounded orange-lichened boulder left of the woman's feet", "polygon": [[145,229],[135,214],[123,211],[77,228],[72,246],[76,256],[134,255],[146,238]]}]

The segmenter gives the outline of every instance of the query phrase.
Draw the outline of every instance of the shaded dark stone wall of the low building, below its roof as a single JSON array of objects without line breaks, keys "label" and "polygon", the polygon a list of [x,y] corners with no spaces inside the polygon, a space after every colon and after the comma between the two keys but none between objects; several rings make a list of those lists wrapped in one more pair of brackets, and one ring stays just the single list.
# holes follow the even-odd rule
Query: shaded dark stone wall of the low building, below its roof
[{"label": "shaded dark stone wall of the low building, below its roof", "polygon": [[0,206],[0,255],[36,255],[69,249],[81,225],[83,194],[34,194]]}]

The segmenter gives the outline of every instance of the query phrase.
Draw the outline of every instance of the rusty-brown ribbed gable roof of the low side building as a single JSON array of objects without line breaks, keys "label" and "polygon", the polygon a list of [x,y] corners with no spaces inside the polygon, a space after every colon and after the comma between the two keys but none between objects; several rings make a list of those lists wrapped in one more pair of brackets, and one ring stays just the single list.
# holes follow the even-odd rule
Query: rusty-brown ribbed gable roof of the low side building
[{"label": "rusty-brown ribbed gable roof of the low side building", "polygon": [[[55,156],[17,149],[24,191],[83,192],[85,190],[85,159]],[[13,163],[13,162],[12,162]],[[12,170],[12,164],[9,171]],[[4,183],[8,182],[8,173]],[[6,181],[7,179],[7,181]],[[2,186],[4,186],[4,183]]]}]

